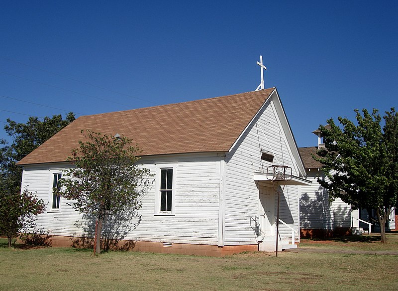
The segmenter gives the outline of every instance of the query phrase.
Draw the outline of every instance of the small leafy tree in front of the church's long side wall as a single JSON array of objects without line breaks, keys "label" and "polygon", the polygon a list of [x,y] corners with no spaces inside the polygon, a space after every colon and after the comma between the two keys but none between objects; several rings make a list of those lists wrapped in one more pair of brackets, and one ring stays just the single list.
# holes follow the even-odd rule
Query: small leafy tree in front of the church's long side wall
[{"label": "small leafy tree in front of the church's long side wall", "polygon": [[96,253],[100,254],[101,229],[106,218],[141,207],[139,200],[148,176],[139,168],[138,147],[126,137],[114,138],[92,131],[82,131],[86,142],[72,150],[68,169],[59,183],[58,194],[73,200],[79,213],[94,216],[98,223]]}]

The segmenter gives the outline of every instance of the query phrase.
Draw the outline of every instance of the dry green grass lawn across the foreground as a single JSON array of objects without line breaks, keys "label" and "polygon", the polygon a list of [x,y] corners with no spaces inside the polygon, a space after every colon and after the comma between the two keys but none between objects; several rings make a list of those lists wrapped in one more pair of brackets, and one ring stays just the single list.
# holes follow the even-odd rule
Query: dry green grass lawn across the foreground
[{"label": "dry green grass lawn across the foreground", "polygon": [[5,246],[0,239],[0,290],[398,290],[398,256],[108,252],[95,257],[92,250]]}]

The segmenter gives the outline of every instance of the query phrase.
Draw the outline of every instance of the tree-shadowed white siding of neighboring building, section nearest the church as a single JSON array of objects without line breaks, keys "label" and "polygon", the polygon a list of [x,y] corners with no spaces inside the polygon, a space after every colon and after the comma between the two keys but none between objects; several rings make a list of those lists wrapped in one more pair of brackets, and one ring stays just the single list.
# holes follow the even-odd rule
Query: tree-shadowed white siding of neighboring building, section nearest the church
[{"label": "tree-shadowed white siding of neighboring building, section nearest the church", "polygon": [[327,189],[317,182],[318,176],[323,178],[323,171],[307,170],[306,179],[312,181],[312,184],[301,186],[300,228],[332,230],[333,209]]}]

